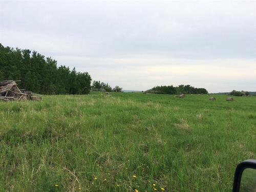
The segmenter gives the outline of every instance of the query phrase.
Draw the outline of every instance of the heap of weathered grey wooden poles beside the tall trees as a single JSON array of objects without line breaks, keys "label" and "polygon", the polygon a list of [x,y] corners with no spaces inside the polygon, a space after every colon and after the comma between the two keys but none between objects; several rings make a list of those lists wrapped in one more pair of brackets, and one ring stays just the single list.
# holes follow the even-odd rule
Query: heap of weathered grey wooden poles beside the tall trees
[{"label": "heap of weathered grey wooden poles beside the tall trees", "polygon": [[20,90],[17,87],[16,81],[6,80],[0,81],[0,100],[4,101],[19,101],[19,100],[36,100],[42,98],[36,97],[31,91]]}]

